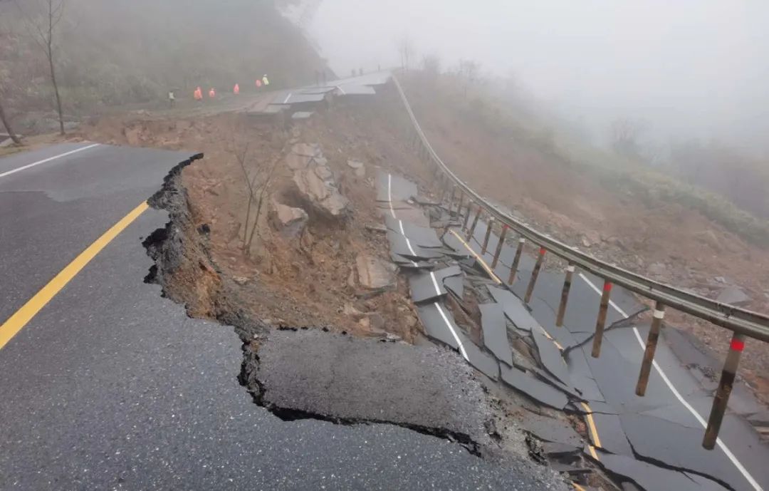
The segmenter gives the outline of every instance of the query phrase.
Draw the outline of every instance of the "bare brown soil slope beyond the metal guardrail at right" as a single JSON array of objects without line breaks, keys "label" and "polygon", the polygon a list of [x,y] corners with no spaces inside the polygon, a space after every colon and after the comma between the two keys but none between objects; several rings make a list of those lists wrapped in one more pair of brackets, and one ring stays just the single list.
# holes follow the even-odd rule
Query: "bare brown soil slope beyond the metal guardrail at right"
[{"label": "bare brown soil slope beyond the metal guardrail at right", "polygon": [[[647,202],[592,179],[516,135],[496,134],[459,105],[409,88],[414,112],[431,145],[462,179],[525,217],[536,228],[601,259],[714,298],[726,283],[751,297],[746,307],[769,311],[769,250],[744,242],[700,212]],[[731,332],[681,313],[667,319],[692,332],[717,356]],[[749,340],[741,375],[769,402],[769,345]]]}]

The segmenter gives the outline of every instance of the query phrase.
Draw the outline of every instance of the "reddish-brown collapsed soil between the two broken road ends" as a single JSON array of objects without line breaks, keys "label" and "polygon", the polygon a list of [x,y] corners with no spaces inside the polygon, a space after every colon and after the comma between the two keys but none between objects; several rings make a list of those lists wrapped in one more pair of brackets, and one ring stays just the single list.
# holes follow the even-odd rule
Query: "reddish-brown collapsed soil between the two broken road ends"
[{"label": "reddish-brown collapsed soil between the two broken road ends", "polygon": [[[371,98],[337,105],[293,134],[231,114],[150,121],[141,115],[128,121],[115,116],[85,126],[81,135],[98,142],[205,152],[205,159],[179,175],[189,210],[179,239],[185,241],[185,257],[173,262],[171,281],[162,282],[165,293],[183,302],[191,316],[216,319],[237,306],[268,326],[325,326],[361,336],[389,332],[413,342],[418,322],[404,279],[398,278],[391,291],[369,292],[351,278],[359,253],[389,261],[384,233],[366,228],[382,222],[374,199],[375,167],[421,172],[394,125],[362,116],[380,108],[361,104],[381,102]],[[305,232],[286,238],[271,226],[268,202],[273,196],[282,202],[290,198],[292,173],[282,159],[299,141],[320,145],[341,194],[351,202],[351,214],[343,221],[311,214]],[[248,186],[236,158],[245,142],[249,176],[260,176],[278,162],[250,247],[244,247]],[[364,162],[366,175],[356,175],[349,159]]]}]

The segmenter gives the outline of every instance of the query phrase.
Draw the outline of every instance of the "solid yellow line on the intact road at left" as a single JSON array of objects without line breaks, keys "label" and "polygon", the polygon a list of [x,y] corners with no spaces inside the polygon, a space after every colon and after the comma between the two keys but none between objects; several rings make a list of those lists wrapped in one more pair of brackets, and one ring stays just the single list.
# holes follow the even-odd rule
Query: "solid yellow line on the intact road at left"
[{"label": "solid yellow line on the intact road at left", "polygon": [[60,292],[67,283],[70,282],[85,268],[88,262],[91,262],[95,256],[105,248],[105,246],[112,242],[112,239],[118,236],[120,232],[125,230],[128,225],[131,225],[135,219],[141,215],[142,212],[148,209],[147,202],[141,203],[135,209],[131,210],[128,215],[125,215],[119,222],[112,225],[112,228],[95,240],[91,245],[80,253],[72,262],[70,262],[65,269],[62,269],[54,278],[43,286],[39,292],[35,293],[31,299],[29,299],[21,309],[18,309],[12,316],[6,320],[2,326],[0,326],[0,349],[8,344],[13,336],[22,330],[27,323],[37,315],[45,305],[51,301],[53,297]]}]

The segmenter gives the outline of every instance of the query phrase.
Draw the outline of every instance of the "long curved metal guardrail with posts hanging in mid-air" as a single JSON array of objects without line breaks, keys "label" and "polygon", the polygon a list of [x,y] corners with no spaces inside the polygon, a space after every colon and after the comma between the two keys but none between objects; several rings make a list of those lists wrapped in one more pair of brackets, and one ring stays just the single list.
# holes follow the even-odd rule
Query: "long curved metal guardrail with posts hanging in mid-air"
[{"label": "long curved metal guardrail with posts hanging in mid-air", "polygon": [[[717,326],[724,327],[731,330],[734,335],[730,344],[730,351],[727,356],[724,370],[721,373],[721,382],[719,383],[718,390],[714,399],[713,409],[711,410],[711,417],[707,425],[705,439],[703,446],[707,449],[712,449],[716,443],[717,433],[721,426],[721,419],[724,416],[724,412],[727,406],[727,400],[731,393],[731,386],[734,382],[734,377],[737,371],[737,364],[739,362],[739,356],[744,349],[744,337],[751,337],[760,341],[769,342],[769,316],[753,312],[751,310],[742,309],[737,306],[716,302],[711,299],[707,299],[704,296],[687,292],[683,289],[676,288],[674,286],[667,285],[662,282],[654,281],[645,276],[641,276],[638,273],[622,269],[618,266],[603,262],[599,259],[595,259],[584,252],[575,249],[563,242],[553,239],[551,236],[542,232],[538,232],[532,229],[529,225],[518,221],[513,216],[498,209],[483,196],[475,192],[469,185],[462,181],[458,175],[454,174],[451,169],[448,168],[438,153],[432,148],[427,136],[424,135],[419,122],[414,115],[414,111],[411,109],[411,104],[408,102],[408,98],[398,81],[398,78],[393,75],[392,77],[394,85],[398,90],[398,94],[401,97],[401,101],[404,104],[406,111],[408,112],[411,123],[414,126],[414,130],[417,136],[417,142],[421,145],[426,158],[436,165],[436,172],[439,175],[443,175],[444,179],[448,180],[448,185],[451,186],[451,199],[449,201],[450,207],[453,206],[454,195],[457,190],[460,192],[459,205],[457,212],[461,212],[462,199],[464,195],[468,195],[470,201],[468,202],[467,215],[464,219],[464,227],[467,227],[468,218],[470,215],[470,205],[475,202],[478,205],[478,215],[476,215],[472,229],[475,227],[475,223],[478,222],[478,216],[481,214],[481,209],[488,213],[491,217],[490,220],[498,221],[502,225],[503,234],[506,229],[511,229],[514,232],[518,232],[521,239],[518,243],[518,251],[516,254],[516,262],[511,270],[511,281],[514,277],[515,269],[518,263],[518,259],[521,256],[521,249],[523,242],[529,240],[540,247],[540,253],[538,256],[538,264],[541,266],[541,261],[544,259],[545,252],[551,252],[554,256],[558,256],[568,262],[568,273],[574,272],[574,267],[582,269],[587,272],[591,272],[595,276],[604,279],[604,292],[601,296],[601,312],[599,313],[598,322],[596,325],[596,335],[594,336],[593,356],[597,357],[601,351],[601,337],[604,329],[605,322],[605,309],[608,305],[609,295],[612,285],[622,286],[624,289],[628,289],[631,292],[638,293],[638,295],[644,296],[647,299],[652,299],[656,302],[654,309],[654,322],[652,322],[649,332],[649,338],[647,340],[646,351],[644,352],[644,363],[641,366],[641,375],[639,376],[638,386],[636,393],[639,396],[643,396],[646,390],[646,384],[648,381],[649,372],[651,371],[651,364],[654,360],[654,350],[657,346],[657,336],[659,335],[659,329],[661,327],[662,319],[664,317],[665,306],[686,312],[699,319],[707,320]],[[444,189],[445,192],[445,189]],[[441,196],[442,201],[442,196]],[[491,224],[491,222],[490,222]],[[489,227],[491,229],[491,227]],[[487,235],[488,237],[488,235]],[[484,248],[485,249],[485,248]],[[498,248],[500,249],[500,248]],[[495,254],[494,262],[498,259],[499,252]],[[538,268],[535,268],[538,272]],[[537,275],[533,274],[529,282],[528,290],[533,290],[534,282],[536,282]],[[571,274],[567,274],[564,282],[564,294],[561,298],[561,308],[564,310],[566,306],[566,300],[568,299],[568,291],[571,287]],[[528,296],[528,295],[527,295]],[[526,300],[528,302],[528,299]],[[562,323],[562,315],[559,316],[558,325]]]}]

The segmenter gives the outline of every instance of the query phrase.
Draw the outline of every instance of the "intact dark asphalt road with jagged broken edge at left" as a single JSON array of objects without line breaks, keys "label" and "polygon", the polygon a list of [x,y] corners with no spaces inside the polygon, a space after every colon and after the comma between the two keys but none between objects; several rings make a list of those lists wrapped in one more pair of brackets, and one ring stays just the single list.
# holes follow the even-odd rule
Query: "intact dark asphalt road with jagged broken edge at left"
[{"label": "intact dark asphalt road with jagged broken edge at left", "polygon": [[[191,156],[88,145],[0,159],[0,339]],[[444,439],[256,406],[235,332],[143,282],[167,219],[138,213],[0,349],[0,489],[542,489]]]}]

